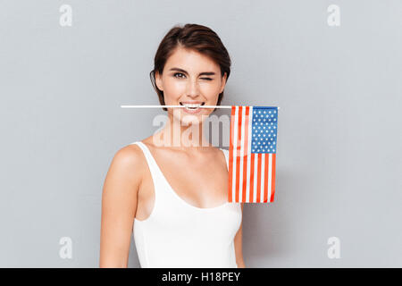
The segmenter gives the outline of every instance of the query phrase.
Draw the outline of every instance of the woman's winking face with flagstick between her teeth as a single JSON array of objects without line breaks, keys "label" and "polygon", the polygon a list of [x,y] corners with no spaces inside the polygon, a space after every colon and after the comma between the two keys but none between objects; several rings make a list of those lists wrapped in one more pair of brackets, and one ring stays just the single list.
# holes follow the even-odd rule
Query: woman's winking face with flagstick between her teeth
[{"label": "woman's winking face with flagstick between her teeth", "polygon": [[[155,81],[163,90],[165,105],[216,105],[225,87],[226,73],[222,77],[220,66],[208,56],[178,47],[166,61],[162,76],[155,73]],[[179,115],[177,119],[186,125],[200,123],[214,111],[214,108],[175,109],[178,111],[173,116]],[[173,113],[172,108],[168,108],[168,113]]]}]

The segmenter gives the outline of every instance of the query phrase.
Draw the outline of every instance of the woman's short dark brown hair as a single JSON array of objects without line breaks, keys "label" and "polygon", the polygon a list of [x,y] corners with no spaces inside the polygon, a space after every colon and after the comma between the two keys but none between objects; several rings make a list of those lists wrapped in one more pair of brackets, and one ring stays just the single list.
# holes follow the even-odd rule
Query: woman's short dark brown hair
[{"label": "woman's short dark brown hair", "polygon": [[[165,105],[163,91],[157,88],[155,84],[155,71],[162,74],[164,64],[177,46],[194,49],[200,54],[209,56],[221,67],[222,76],[226,72],[226,81],[229,79],[230,56],[225,46],[223,46],[221,38],[218,37],[214,30],[197,24],[186,24],[183,27],[176,25],[164,36],[159,44],[155,54],[154,70],[149,74],[161,105]],[[221,105],[222,97],[223,91],[219,94],[216,105]],[[167,108],[163,107],[163,110],[167,111]]]}]

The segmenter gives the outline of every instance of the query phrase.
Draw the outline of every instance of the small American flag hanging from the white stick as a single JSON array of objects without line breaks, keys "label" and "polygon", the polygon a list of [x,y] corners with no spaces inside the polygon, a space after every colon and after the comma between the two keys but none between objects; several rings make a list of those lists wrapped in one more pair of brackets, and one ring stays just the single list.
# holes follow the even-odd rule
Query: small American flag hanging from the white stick
[{"label": "small American flag hanging from the white stick", "polygon": [[231,106],[229,202],[273,202],[278,107]]}]

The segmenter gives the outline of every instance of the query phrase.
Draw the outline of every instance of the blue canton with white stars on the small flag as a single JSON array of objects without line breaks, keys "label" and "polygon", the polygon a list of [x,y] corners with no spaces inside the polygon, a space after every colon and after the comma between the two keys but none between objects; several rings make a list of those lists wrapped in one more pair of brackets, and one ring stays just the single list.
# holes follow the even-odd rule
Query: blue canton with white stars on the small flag
[{"label": "blue canton with white stars on the small flag", "polygon": [[251,153],[276,153],[278,107],[253,106]]}]

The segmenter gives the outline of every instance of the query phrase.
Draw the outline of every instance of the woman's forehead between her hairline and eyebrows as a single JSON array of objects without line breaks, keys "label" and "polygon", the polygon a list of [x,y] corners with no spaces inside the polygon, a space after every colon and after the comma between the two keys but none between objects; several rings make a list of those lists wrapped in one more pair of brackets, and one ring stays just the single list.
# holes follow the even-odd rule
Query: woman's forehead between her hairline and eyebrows
[{"label": "woman's forehead between her hairline and eyebrows", "polygon": [[209,56],[198,53],[192,49],[177,47],[167,59],[164,68],[180,68],[188,72],[220,71],[220,67]]}]

